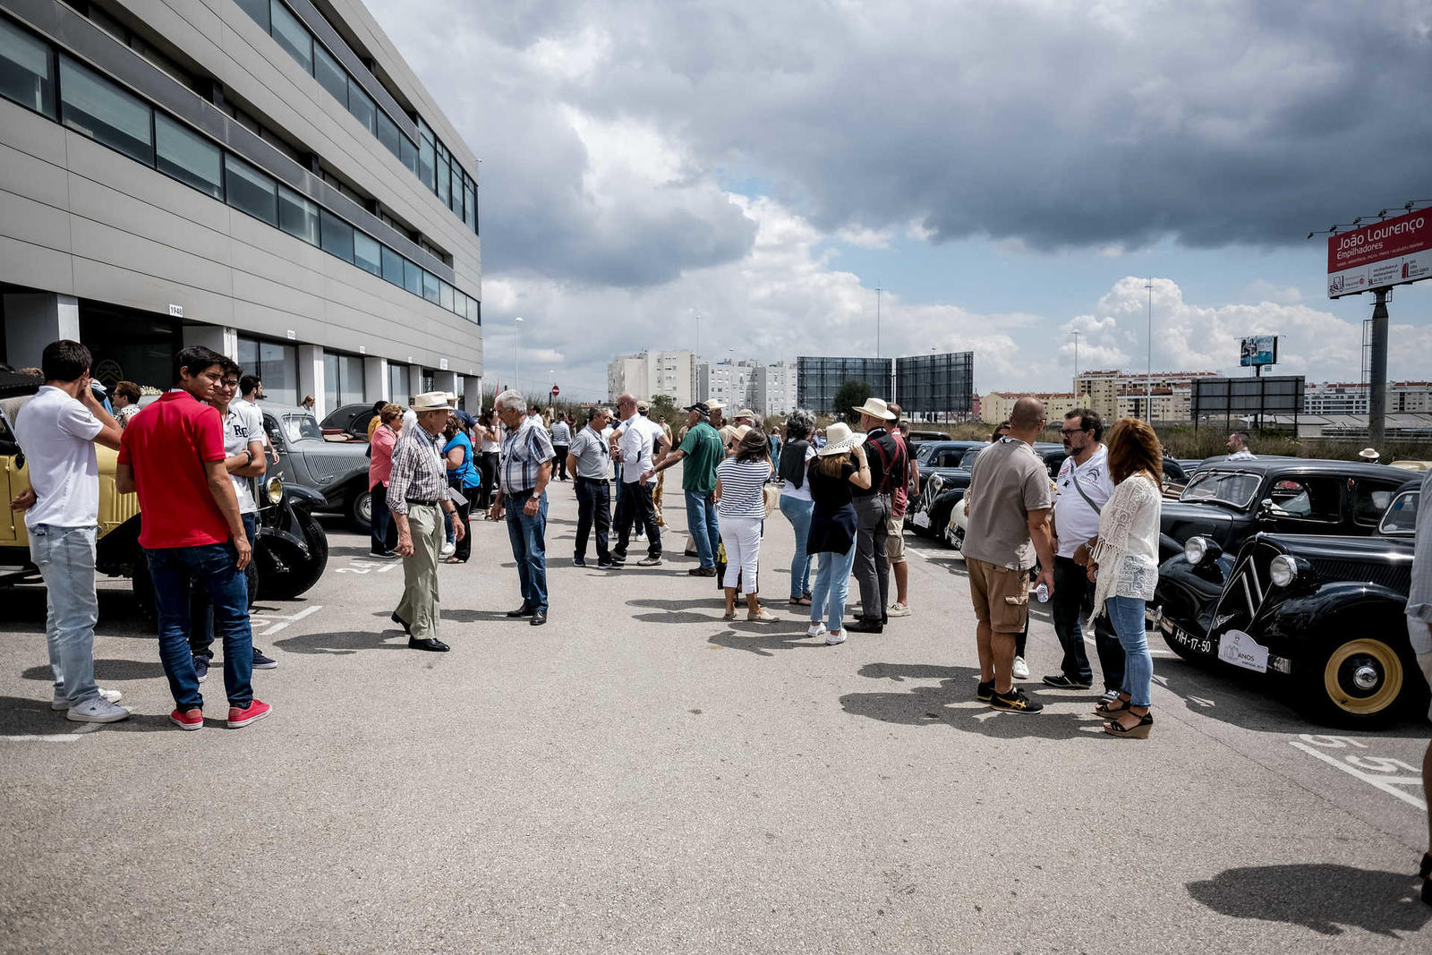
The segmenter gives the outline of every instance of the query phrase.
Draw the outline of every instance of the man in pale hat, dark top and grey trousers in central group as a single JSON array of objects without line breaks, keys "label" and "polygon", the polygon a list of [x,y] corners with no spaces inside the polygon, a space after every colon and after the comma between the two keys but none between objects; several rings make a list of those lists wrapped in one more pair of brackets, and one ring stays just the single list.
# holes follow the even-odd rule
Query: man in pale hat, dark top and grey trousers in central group
[{"label": "man in pale hat, dark top and grey trousers in central group", "polygon": [[861,431],[865,432],[865,460],[871,467],[871,485],[852,485],[855,504],[855,580],[861,584],[861,619],[848,630],[855,633],[884,633],[885,604],[891,591],[891,567],[885,538],[891,515],[891,484],[906,480],[909,458],[905,447],[889,435],[895,420],[881,398],[869,398],[862,407]]}]

